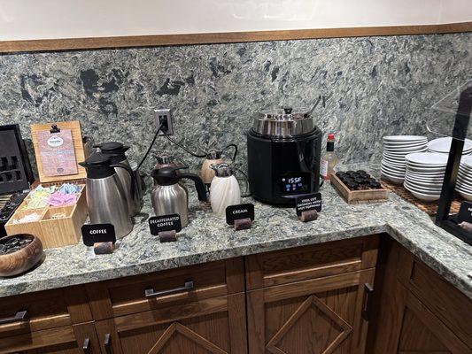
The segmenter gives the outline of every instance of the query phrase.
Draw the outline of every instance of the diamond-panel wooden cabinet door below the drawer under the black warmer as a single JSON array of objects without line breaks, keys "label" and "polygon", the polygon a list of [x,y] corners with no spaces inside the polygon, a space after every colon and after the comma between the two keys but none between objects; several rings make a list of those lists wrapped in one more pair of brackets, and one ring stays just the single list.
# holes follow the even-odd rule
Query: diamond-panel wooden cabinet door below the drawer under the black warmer
[{"label": "diamond-panel wooden cabinet door below the drawer under the black warmer", "polygon": [[374,270],[252,290],[250,354],[364,351]]}]

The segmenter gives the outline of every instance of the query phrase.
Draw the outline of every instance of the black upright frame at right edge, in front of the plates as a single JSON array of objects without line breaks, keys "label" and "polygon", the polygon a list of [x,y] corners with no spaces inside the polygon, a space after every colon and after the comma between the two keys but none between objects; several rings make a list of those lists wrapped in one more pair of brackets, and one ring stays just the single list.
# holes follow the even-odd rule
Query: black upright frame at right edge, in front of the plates
[{"label": "black upright frame at right edge, in front of the plates", "polygon": [[[468,122],[472,112],[472,86],[460,94],[459,108],[456,113],[453,127],[453,142],[449,151],[449,159],[445,167],[445,181],[441,197],[437,203],[436,225],[444,228],[450,234],[459,237],[462,241],[472,245],[470,225],[458,224],[457,214],[450,215],[454,191],[459,173],[460,158],[464,150],[464,142],[468,132]],[[466,223],[468,224],[468,223]]]}]

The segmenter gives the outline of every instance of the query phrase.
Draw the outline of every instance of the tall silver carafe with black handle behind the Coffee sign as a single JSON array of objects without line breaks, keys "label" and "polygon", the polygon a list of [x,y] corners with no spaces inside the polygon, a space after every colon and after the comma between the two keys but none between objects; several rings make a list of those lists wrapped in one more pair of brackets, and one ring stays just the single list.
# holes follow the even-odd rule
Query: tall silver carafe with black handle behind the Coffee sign
[{"label": "tall silver carafe with black handle behind the Coffee sign", "polygon": [[117,238],[128,235],[133,229],[129,216],[127,193],[121,185],[115,168],[129,174],[131,183],[128,193],[135,193],[135,177],[128,165],[113,164],[112,157],[94,152],[79,163],[87,170],[86,196],[90,223],[112,224]]}]

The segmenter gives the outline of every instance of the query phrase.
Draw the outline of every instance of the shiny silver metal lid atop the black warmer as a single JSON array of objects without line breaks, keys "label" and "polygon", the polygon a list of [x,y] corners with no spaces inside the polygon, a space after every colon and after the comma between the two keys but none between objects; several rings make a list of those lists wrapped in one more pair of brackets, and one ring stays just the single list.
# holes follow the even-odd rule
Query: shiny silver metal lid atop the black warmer
[{"label": "shiny silver metal lid atop the black warmer", "polygon": [[258,112],[252,131],[275,137],[305,135],[316,128],[311,111],[313,109],[284,107]]}]

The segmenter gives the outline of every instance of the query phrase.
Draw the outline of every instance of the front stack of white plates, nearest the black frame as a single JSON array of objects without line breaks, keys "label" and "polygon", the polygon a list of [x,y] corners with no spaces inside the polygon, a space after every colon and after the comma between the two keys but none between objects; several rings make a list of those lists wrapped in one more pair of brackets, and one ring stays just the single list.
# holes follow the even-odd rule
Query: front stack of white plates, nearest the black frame
[{"label": "front stack of white plates, nearest the black frame", "polygon": [[403,185],[420,200],[439,199],[445,179],[448,155],[422,152],[406,156],[406,174]]}]

